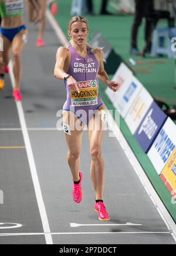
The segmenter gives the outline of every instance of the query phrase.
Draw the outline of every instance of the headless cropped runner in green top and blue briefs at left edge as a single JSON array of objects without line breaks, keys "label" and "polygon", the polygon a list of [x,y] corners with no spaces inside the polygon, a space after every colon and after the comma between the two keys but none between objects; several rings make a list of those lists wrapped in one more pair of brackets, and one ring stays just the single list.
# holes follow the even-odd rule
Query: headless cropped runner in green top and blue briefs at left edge
[{"label": "headless cropped runner in green top and blue briefs at left edge", "polygon": [[[40,19],[39,9],[35,0],[30,0],[36,8],[38,15],[35,22]],[[9,0],[0,0],[0,14],[2,18],[0,35],[4,41],[4,51],[1,58],[1,79],[0,90],[4,89],[5,81],[4,74],[9,73],[10,52],[13,55],[13,75],[15,77],[15,89],[13,90],[13,97],[15,101],[21,101],[22,96],[19,90],[22,76],[22,50],[28,41],[28,31],[24,25],[23,18],[24,0],[16,0],[15,2]]]}]

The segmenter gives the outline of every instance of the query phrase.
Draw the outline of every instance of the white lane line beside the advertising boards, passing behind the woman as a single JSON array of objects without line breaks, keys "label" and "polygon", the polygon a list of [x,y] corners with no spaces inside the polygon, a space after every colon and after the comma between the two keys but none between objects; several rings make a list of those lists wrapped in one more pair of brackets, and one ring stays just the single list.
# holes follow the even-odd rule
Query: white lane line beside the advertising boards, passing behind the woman
[{"label": "white lane line beside the advertising boards, passing behind the woman", "polygon": [[[53,21],[52,19],[49,19],[49,21],[50,21],[50,24],[52,25],[53,29],[55,31],[57,31],[56,32],[57,37],[59,39],[64,38],[65,35],[63,34],[62,29],[60,28],[60,26],[56,22],[56,20],[54,19],[54,21]],[[68,41],[65,42],[65,40],[62,40],[62,42],[63,42],[63,46],[68,45]],[[106,106],[106,105],[104,105],[104,106]],[[143,170],[139,161],[137,160],[133,150],[131,150],[130,146],[127,143],[126,138],[123,136],[123,133],[121,133],[117,124],[115,126],[113,126],[113,123],[114,123],[113,117],[108,122],[111,126],[111,130],[116,135],[116,138],[117,138],[118,142],[120,143],[120,146],[124,150],[124,153],[126,154],[128,160],[130,161],[134,170],[136,171],[136,174],[137,174],[138,178],[140,178],[140,181],[143,184],[145,190],[147,191],[148,196],[150,196],[151,201],[153,201],[154,206],[157,208],[158,213],[160,214],[164,223],[167,225],[168,230],[171,231],[172,237],[176,241],[176,225],[174,223],[174,220],[172,220],[172,217],[171,217],[170,213],[168,213],[168,211],[165,208],[163,202],[161,201],[160,197],[156,193],[156,191],[155,191],[154,187],[152,186],[150,180],[148,179],[147,175],[145,174],[145,171]],[[120,136],[119,136],[119,134],[120,134]]]}]

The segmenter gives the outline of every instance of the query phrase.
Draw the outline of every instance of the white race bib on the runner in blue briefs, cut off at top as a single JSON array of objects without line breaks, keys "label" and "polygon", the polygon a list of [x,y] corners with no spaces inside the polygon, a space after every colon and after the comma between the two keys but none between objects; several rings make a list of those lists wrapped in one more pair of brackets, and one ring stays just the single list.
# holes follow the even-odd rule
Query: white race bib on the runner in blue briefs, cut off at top
[{"label": "white race bib on the runner in blue briefs, cut off at top", "polygon": [[22,14],[24,10],[24,0],[5,0],[6,15]]}]

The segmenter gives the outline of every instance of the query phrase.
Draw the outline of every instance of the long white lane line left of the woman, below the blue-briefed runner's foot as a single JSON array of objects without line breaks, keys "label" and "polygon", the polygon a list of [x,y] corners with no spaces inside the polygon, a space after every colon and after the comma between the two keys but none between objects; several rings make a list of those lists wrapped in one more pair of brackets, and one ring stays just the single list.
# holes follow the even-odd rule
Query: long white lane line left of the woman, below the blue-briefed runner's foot
[{"label": "long white lane line left of the woman, below the blue-briefed runner's foot", "polygon": [[[9,68],[10,68],[10,78],[11,78],[12,87],[14,88],[15,87],[15,79],[14,79],[13,72],[12,72],[12,62],[9,63]],[[26,126],[26,120],[25,120],[25,115],[23,112],[22,103],[16,102],[16,107],[18,109],[19,121],[20,121],[20,124],[22,127],[23,139],[25,141],[26,153],[28,156],[33,186],[34,186],[35,194],[36,194],[36,200],[38,202],[40,217],[42,220],[43,231],[45,233],[46,244],[53,244],[52,235],[50,234],[49,221],[48,221],[48,217],[46,214],[45,204],[43,202],[42,191],[40,188],[38,173],[36,170],[36,164],[35,164],[35,160],[33,157],[32,146],[31,146],[31,142],[29,139],[29,134],[28,134],[27,126]]]}]

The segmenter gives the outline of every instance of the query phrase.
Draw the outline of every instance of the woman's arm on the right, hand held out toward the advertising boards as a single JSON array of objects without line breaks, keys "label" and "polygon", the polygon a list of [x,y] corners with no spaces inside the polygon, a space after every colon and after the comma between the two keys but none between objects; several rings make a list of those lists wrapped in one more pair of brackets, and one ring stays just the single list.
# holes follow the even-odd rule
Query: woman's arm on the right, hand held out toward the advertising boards
[{"label": "woman's arm on the right, hand held out toward the advertising boards", "polygon": [[94,49],[94,54],[96,55],[97,59],[100,63],[99,68],[99,79],[105,83],[113,92],[117,92],[119,90],[120,85],[117,82],[109,80],[109,76],[107,75],[106,71],[104,70],[104,64],[103,64],[103,50],[102,49]]}]

